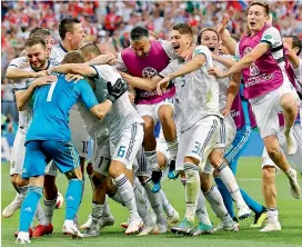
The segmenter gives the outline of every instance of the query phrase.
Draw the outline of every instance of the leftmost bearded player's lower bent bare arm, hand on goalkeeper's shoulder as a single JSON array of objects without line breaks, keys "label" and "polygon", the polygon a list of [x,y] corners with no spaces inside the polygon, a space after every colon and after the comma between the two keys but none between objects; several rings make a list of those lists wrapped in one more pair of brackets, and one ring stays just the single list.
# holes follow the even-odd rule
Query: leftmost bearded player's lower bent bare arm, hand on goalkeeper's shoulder
[{"label": "leftmost bearded player's lower bent bare arm, hand on goalkeeper's shoulder", "polygon": [[31,99],[36,88],[42,87],[44,85],[52,83],[56,81],[58,78],[54,76],[46,76],[36,79],[27,90],[21,90],[21,91],[16,91],[16,102],[17,102],[17,108],[19,111],[24,110],[28,101]]}]

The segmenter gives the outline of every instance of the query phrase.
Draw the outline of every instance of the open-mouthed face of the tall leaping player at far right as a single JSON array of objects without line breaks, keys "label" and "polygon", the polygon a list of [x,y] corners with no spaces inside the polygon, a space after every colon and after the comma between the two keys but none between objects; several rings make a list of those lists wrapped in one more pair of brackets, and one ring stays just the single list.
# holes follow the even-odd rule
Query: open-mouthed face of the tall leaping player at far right
[{"label": "open-mouthed face of the tall leaping player at far right", "polygon": [[269,16],[265,14],[265,9],[262,6],[252,6],[248,12],[248,24],[252,34],[259,32],[269,21]]}]

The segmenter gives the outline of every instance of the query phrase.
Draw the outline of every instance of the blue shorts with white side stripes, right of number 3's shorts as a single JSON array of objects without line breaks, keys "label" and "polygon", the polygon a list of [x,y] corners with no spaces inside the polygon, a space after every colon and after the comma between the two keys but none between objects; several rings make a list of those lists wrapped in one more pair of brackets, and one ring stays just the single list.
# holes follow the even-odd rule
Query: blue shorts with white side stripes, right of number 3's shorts
[{"label": "blue shorts with white side stripes, right of number 3's shorts", "polygon": [[[244,148],[248,146],[251,137],[251,127],[243,126],[241,129],[236,130],[235,138],[231,144],[231,147],[225,152],[224,158],[228,160],[233,174],[236,172],[236,164],[234,162],[239,159]],[[235,166],[235,167],[234,167]]]}]

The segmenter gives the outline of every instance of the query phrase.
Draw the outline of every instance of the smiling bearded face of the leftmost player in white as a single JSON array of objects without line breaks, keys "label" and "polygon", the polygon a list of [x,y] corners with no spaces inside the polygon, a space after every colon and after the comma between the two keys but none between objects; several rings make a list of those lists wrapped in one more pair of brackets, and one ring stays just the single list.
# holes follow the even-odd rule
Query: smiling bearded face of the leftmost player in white
[{"label": "smiling bearded face of the leftmost player in white", "polygon": [[26,51],[31,68],[42,70],[48,58],[47,49],[41,43],[37,43],[32,47],[26,47]]}]

